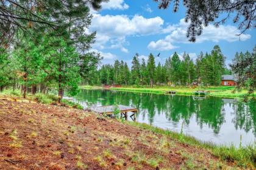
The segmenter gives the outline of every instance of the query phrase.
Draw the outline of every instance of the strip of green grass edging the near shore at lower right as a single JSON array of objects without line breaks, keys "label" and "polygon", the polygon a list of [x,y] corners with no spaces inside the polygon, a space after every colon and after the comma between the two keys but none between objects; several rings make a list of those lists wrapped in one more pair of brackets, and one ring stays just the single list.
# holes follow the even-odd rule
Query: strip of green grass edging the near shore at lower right
[{"label": "strip of green grass edging the near shore at lower right", "polygon": [[233,145],[217,146],[210,142],[199,141],[194,137],[164,130],[146,123],[137,123],[133,121],[122,122],[141,129],[146,129],[156,134],[174,138],[183,144],[189,144],[196,148],[205,148],[221,160],[235,162],[236,165],[241,166],[242,168],[254,169],[256,167],[256,143],[249,146],[240,146],[238,148]]}]

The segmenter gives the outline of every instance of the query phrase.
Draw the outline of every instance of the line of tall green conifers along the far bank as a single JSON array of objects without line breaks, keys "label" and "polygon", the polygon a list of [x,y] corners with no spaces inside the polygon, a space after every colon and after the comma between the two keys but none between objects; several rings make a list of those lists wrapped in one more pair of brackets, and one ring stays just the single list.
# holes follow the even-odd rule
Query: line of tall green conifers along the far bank
[{"label": "line of tall green conifers along the far bank", "polygon": [[[252,53],[236,53],[235,58],[251,56]],[[132,67],[129,69],[124,61],[115,61],[115,64],[104,64],[101,69],[88,79],[91,85],[123,84],[135,86],[174,85],[191,86],[218,86],[221,83],[221,75],[231,74],[227,69],[226,57],[219,46],[214,46],[210,53],[200,53],[193,61],[188,53],[180,57],[176,52],[166,59],[165,64],[155,63],[152,53],[148,61],[139,60],[138,53],[133,56]]]}]

